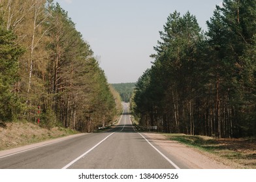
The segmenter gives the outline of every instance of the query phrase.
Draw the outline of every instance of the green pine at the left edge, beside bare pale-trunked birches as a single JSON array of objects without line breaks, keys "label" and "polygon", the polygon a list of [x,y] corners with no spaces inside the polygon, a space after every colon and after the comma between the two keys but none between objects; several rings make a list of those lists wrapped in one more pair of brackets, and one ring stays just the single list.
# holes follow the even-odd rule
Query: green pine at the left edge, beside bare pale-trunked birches
[{"label": "green pine at the left edge, beside bare pale-trunked birches", "polygon": [[16,36],[0,25],[0,121],[11,122],[18,118],[23,105],[17,96],[19,81],[18,58],[22,48],[15,42]]}]

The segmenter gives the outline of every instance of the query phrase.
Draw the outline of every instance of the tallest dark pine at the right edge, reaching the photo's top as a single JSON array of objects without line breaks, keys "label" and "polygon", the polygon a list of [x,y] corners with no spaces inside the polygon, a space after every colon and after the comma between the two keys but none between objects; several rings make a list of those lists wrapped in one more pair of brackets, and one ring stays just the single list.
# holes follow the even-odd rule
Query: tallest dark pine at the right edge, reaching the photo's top
[{"label": "tallest dark pine at the right edge, reaching the photo's top", "polygon": [[248,90],[254,86],[248,85],[248,79],[255,66],[243,58],[248,57],[248,47],[253,47],[256,24],[249,19],[255,18],[255,7],[255,1],[225,0],[208,21],[207,35],[212,49],[209,70],[216,76],[216,83],[210,82],[215,85],[214,127],[218,137],[241,136],[249,122],[244,118],[248,118],[251,110]]}]

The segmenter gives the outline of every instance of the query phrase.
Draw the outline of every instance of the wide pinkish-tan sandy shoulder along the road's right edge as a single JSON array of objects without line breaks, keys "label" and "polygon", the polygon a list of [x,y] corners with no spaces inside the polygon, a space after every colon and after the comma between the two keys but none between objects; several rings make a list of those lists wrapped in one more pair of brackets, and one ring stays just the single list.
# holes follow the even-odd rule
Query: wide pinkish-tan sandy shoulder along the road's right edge
[{"label": "wide pinkish-tan sandy shoulder along the road's right edge", "polygon": [[175,155],[189,168],[195,169],[231,169],[239,168],[237,164],[221,159],[216,155],[190,148],[173,140],[168,140],[166,136],[159,133],[144,133],[157,146],[164,149],[171,155]]}]

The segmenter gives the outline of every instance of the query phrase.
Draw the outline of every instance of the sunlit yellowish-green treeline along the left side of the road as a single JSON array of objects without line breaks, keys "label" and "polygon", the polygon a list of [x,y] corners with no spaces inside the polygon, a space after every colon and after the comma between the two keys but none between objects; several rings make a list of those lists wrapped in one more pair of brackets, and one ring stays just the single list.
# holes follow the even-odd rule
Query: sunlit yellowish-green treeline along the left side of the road
[{"label": "sunlit yellowish-green treeline along the left side of the road", "polygon": [[0,122],[91,132],[121,110],[89,44],[51,0],[0,1]]}]

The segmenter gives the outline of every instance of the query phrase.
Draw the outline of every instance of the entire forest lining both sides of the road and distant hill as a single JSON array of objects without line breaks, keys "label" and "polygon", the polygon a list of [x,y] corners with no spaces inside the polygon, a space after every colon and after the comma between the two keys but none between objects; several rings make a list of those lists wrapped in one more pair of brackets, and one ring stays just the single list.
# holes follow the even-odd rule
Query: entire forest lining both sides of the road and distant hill
[{"label": "entire forest lining both sides of the road and distant hill", "polygon": [[58,3],[0,0],[0,126],[92,132],[118,118],[122,99],[140,125],[158,132],[255,136],[255,10],[255,0],[223,0],[207,30],[190,12],[172,12],[152,67],[136,84],[110,85]]}]

